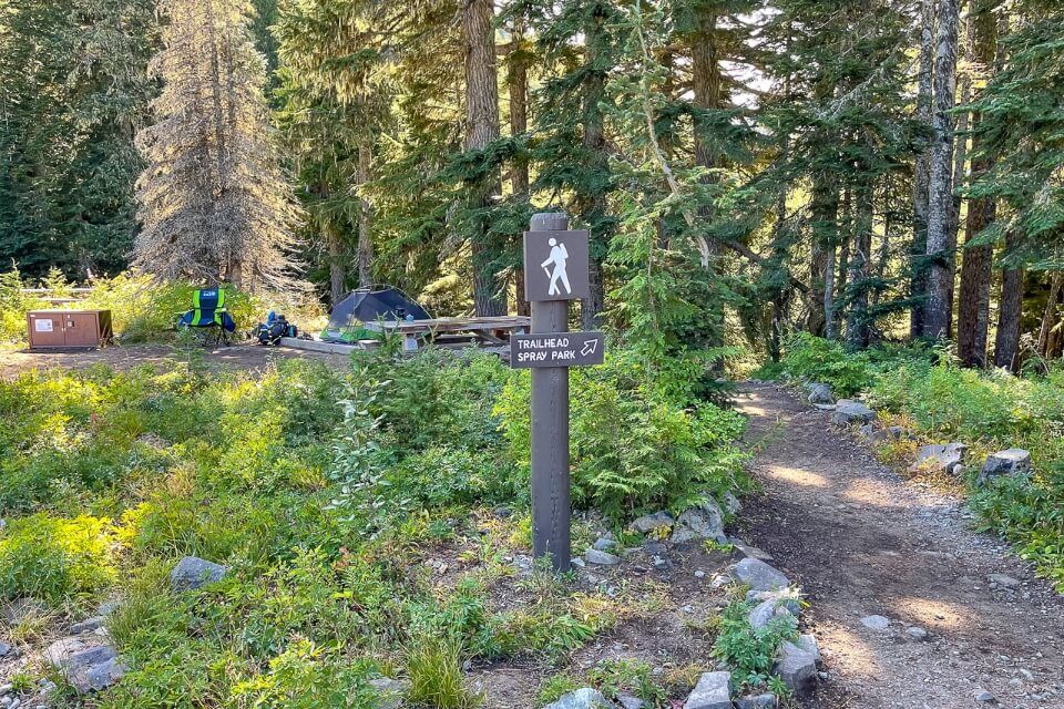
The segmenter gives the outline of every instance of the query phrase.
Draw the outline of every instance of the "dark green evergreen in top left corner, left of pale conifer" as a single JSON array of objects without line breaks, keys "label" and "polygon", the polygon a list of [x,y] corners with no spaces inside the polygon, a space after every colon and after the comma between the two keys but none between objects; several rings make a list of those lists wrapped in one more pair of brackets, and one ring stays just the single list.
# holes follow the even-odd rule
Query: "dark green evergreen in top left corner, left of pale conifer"
[{"label": "dark green evergreen in top left corner, left of pale conifer", "polygon": [[151,3],[0,2],[0,260],[29,275],[125,267],[155,43]]}]

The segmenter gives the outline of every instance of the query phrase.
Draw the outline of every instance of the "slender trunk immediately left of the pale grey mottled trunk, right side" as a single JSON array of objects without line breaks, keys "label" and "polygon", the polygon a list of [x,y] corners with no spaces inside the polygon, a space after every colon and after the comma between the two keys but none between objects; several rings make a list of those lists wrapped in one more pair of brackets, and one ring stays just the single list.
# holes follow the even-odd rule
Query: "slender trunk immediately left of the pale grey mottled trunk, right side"
[{"label": "slender trunk immediately left of the pale grey mottled trunk, right side", "polygon": [[[923,0],[920,33],[920,75],[917,90],[917,117],[931,125],[931,78],[934,60],[934,3],[937,0]],[[928,188],[931,181],[930,146],[917,155],[912,181],[912,250],[910,268],[912,270],[910,289],[913,299],[910,306],[910,337],[923,336],[923,315],[927,309],[927,250],[928,250]]]}]

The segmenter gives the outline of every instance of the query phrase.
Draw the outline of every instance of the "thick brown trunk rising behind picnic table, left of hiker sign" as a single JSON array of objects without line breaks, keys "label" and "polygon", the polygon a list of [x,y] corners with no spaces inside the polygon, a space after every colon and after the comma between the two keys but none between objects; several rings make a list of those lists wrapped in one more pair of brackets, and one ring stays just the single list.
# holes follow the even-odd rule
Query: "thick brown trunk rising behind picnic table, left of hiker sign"
[{"label": "thick brown trunk rising behind picnic table, left of hiker sign", "polygon": [[[499,78],[495,72],[493,0],[466,0],[462,29],[466,39],[466,150],[484,147],[499,138]],[[492,175],[470,188],[470,207],[484,209],[499,192]],[[507,294],[495,274],[499,245],[488,219],[481,217],[471,237],[473,307],[480,317],[505,315]]]}]

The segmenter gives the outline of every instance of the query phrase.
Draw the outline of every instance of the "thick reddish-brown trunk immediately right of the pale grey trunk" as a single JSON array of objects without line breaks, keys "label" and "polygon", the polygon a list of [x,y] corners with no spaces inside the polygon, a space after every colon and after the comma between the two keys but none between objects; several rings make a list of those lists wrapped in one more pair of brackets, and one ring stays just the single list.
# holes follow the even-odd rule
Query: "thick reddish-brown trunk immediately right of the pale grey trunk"
[{"label": "thick reddish-brown trunk immediately right of the pale grey trunk", "polygon": [[[991,3],[983,0],[973,9],[973,71],[989,79],[998,55],[998,21]],[[980,115],[972,116],[972,179],[978,179],[993,165],[993,158],[981,155],[983,138],[979,134]],[[961,296],[956,320],[956,354],[968,367],[985,367],[986,331],[990,320],[990,279],[994,247],[990,244],[972,246],[980,232],[996,216],[993,198],[980,197],[968,202],[968,222],[964,228],[964,251],[961,261]]]}]

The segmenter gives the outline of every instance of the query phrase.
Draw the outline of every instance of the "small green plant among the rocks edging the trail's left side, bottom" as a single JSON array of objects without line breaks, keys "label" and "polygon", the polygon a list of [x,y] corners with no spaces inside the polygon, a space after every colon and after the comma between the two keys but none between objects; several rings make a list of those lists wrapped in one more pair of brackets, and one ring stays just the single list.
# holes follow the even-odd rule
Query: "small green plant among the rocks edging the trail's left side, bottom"
[{"label": "small green plant among the rocks edging the trail's left side, bottom", "polygon": [[768,681],[776,651],[784,640],[798,637],[798,621],[790,614],[775,616],[760,628],[750,626],[754,603],[730,603],[720,614],[713,656],[733,669],[737,684],[758,687]]}]

